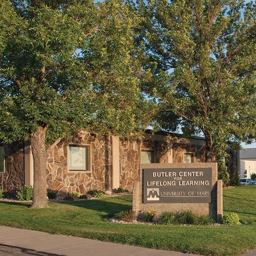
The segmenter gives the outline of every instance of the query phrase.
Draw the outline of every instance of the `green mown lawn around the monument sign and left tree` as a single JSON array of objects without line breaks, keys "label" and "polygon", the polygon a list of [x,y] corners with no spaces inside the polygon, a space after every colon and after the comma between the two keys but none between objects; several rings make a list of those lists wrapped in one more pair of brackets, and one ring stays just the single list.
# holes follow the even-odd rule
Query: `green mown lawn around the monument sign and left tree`
[{"label": "green mown lawn around the monument sign and left tree", "polygon": [[29,209],[29,203],[1,202],[0,225],[206,255],[238,255],[255,249],[256,186],[224,189],[223,195],[224,213],[238,213],[245,225],[167,227],[109,223],[107,218],[114,213],[131,208],[130,196],[50,202],[48,209]]}]

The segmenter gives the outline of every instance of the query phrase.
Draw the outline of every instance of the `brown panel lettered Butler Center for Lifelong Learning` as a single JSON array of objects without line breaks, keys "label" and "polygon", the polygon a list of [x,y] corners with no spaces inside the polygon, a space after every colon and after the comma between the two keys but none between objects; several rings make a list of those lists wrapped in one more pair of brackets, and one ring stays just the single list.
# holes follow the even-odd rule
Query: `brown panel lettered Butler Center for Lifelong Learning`
[{"label": "brown panel lettered Butler Center for Lifelong Learning", "polygon": [[144,203],[211,202],[212,168],[143,169]]}]

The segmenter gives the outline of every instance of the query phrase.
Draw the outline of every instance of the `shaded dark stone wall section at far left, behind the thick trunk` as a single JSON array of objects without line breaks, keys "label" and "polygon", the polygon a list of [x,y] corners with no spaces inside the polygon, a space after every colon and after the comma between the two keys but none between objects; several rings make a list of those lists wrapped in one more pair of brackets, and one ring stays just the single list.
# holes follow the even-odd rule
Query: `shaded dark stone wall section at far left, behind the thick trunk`
[{"label": "shaded dark stone wall section at far left, behind the thick trunk", "polygon": [[5,170],[0,172],[0,188],[14,194],[25,184],[23,141],[5,145]]}]

